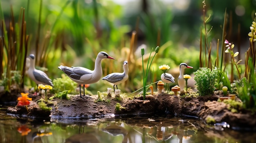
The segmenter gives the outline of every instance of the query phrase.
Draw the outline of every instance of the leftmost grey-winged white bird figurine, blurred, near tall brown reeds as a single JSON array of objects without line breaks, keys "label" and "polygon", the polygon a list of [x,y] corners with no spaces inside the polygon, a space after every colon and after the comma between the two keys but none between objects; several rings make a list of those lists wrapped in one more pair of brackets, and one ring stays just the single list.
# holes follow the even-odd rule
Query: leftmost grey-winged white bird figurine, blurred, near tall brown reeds
[{"label": "leftmost grey-winged white bird figurine, blurred, near tall brown reeds", "polygon": [[[30,66],[27,72],[29,78],[32,79],[37,84],[37,86],[38,84],[53,86],[52,80],[49,79],[46,73],[43,72],[42,70],[37,70],[35,68],[35,55],[30,54],[29,59],[30,59]],[[36,91],[37,91],[37,88],[36,88]]]}]

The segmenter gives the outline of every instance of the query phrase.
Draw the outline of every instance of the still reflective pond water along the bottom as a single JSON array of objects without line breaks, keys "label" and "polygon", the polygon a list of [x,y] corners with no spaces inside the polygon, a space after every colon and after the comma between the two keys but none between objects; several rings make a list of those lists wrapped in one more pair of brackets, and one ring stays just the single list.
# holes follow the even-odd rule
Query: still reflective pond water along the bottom
[{"label": "still reflective pond water along the bottom", "polygon": [[255,143],[256,132],[207,126],[199,119],[114,115],[28,119],[0,110],[0,143]]}]

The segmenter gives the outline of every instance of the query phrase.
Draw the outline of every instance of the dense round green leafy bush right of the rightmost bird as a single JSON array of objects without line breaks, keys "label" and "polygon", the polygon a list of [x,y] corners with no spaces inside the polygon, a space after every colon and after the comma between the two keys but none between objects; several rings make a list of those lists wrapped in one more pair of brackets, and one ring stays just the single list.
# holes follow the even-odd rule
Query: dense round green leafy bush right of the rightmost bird
[{"label": "dense round green leafy bush right of the rightmost bird", "polygon": [[195,85],[201,96],[212,95],[215,90],[217,69],[201,68],[195,71]]}]

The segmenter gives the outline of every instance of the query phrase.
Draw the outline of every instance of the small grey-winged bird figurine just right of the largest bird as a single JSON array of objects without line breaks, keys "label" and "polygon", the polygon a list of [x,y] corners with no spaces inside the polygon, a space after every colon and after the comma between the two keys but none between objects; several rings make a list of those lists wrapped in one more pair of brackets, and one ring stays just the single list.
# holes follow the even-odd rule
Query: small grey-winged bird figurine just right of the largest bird
[{"label": "small grey-winged bird figurine just right of the largest bird", "polygon": [[[124,72],[123,73],[110,73],[106,77],[103,77],[103,80],[106,80],[108,82],[111,82],[114,84],[114,92],[115,92],[115,86],[117,87],[117,84],[120,84],[128,79],[128,62],[124,61],[123,63]],[[117,88],[118,89],[118,88]]]}]

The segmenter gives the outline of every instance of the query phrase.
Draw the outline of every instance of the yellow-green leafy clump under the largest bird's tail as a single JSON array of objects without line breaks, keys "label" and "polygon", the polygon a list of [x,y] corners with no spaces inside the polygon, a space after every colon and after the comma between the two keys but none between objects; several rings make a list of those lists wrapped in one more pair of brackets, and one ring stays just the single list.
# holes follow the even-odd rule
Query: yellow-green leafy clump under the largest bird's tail
[{"label": "yellow-green leafy clump under the largest bird's tail", "polygon": [[70,94],[75,94],[75,89],[77,84],[72,81],[69,77],[64,74],[61,75],[61,78],[53,79],[54,93],[62,92],[67,90]]}]

